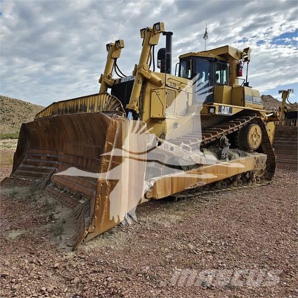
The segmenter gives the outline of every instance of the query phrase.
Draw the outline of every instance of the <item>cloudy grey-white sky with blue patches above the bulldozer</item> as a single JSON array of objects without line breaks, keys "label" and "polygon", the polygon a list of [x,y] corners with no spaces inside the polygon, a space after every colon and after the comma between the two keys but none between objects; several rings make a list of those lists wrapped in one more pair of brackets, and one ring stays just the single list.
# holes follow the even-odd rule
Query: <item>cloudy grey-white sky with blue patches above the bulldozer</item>
[{"label": "cloudy grey-white sky with blue patches above the bulldozer", "polygon": [[[298,101],[296,1],[4,0],[0,8],[0,93],[35,104],[97,93],[105,45],[123,39],[118,61],[131,75],[141,51],[139,29],[158,21],[173,31],[178,56],[230,45],[250,47],[248,81],[280,99]],[[161,36],[158,47],[165,46]],[[157,53],[157,50],[156,50]]]}]

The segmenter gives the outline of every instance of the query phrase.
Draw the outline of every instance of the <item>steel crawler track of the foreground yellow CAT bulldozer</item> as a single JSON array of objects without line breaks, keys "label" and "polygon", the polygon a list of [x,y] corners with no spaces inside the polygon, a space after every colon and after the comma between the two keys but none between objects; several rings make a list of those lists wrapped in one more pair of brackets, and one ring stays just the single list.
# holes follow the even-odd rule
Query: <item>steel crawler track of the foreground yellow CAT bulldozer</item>
[{"label": "steel crawler track of the foreground yellow CAT bulldozer", "polygon": [[[194,190],[187,190],[182,193],[174,194],[173,197],[192,197],[210,192],[229,191],[236,188],[260,186],[269,183],[275,172],[275,155],[266,130],[266,125],[256,114],[235,116],[229,118],[227,121],[222,121],[207,128],[202,128],[201,133],[192,132],[174,139],[168,139],[167,141],[178,146],[187,145],[195,152],[206,146],[212,146],[212,144],[217,145],[217,140],[222,136],[229,137],[231,134],[239,132],[244,126],[253,123],[258,124],[262,129],[262,143],[257,152],[267,155],[266,169],[263,173],[245,172],[241,175],[235,175],[221,181],[207,184],[204,187],[198,187]],[[166,156],[164,164],[166,164]],[[157,165],[149,166],[148,171],[157,172]]]}]

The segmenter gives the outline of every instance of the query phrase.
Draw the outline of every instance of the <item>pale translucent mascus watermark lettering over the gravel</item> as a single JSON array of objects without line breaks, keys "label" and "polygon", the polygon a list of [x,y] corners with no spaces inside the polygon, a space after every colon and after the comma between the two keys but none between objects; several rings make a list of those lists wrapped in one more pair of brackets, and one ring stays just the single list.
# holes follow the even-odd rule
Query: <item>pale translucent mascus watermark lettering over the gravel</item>
[{"label": "pale translucent mascus watermark lettering over the gravel", "polygon": [[175,269],[172,286],[190,287],[272,287],[279,283],[281,270],[192,270]]}]

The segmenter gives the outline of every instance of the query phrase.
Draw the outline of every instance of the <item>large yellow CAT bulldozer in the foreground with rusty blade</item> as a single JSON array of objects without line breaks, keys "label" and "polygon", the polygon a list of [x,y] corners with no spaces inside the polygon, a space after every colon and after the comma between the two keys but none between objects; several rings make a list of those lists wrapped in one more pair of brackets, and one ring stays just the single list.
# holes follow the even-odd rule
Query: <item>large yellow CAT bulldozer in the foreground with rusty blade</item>
[{"label": "large yellow CAT bulldozer in the foreground with rusty blade", "polygon": [[21,126],[2,185],[39,189],[71,208],[73,249],[148,200],[272,180],[278,112],[264,110],[242,78],[250,48],[185,53],[172,74],[172,36],[162,22],[141,29],[131,76],[118,65],[124,41],[107,44],[99,93],[54,102]]}]

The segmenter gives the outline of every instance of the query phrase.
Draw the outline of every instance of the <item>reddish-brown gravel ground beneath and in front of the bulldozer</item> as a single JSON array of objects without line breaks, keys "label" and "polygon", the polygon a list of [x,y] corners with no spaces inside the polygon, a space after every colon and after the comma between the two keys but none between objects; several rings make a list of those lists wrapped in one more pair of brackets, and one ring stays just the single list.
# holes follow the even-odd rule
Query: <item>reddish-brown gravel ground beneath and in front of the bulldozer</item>
[{"label": "reddish-brown gravel ground beneath and in front of the bulldozer", "polygon": [[277,170],[265,187],[145,203],[138,222],[65,252],[45,198],[11,190],[1,200],[0,295],[296,297],[296,198],[297,172]]}]

